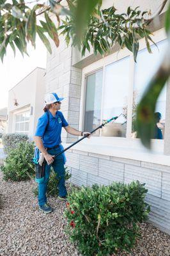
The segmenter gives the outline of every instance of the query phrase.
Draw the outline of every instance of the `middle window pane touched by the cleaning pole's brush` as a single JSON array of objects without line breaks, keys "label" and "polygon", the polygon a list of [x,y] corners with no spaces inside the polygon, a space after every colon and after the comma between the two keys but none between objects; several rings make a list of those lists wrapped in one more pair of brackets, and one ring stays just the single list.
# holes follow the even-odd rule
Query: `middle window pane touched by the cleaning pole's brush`
[{"label": "middle window pane touched by the cleaning pole's brush", "polygon": [[102,136],[125,137],[127,132],[127,98],[129,87],[129,57],[105,67],[103,120],[121,115],[102,129]]}]

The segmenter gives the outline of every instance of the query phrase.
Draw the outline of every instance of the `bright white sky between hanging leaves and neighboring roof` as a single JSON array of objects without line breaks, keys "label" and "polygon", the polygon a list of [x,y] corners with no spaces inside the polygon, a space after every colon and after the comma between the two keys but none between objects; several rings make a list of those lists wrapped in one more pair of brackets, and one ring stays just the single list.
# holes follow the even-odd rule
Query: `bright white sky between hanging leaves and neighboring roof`
[{"label": "bright white sky between hanging leaves and neighboring roof", "polygon": [[24,58],[20,51],[16,49],[14,58],[13,51],[7,48],[3,63],[0,60],[0,109],[8,106],[8,91],[19,83],[36,67],[46,68],[47,51],[42,41],[37,38],[36,49],[31,45],[27,48],[28,54]]}]

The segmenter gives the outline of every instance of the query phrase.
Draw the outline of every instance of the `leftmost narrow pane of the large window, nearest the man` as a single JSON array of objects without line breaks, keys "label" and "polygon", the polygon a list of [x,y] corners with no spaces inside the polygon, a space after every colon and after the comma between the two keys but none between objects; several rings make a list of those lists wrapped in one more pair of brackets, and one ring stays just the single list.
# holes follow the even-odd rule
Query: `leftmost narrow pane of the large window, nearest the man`
[{"label": "leftmost narrow pane of the large window, nearest the man", "polygon": [[[102,103],[103,70],[86,78],[86,104],[84,113],[84,131],[92,131],[100,125]],[[98,135],[99,131],[93,135]]]}]

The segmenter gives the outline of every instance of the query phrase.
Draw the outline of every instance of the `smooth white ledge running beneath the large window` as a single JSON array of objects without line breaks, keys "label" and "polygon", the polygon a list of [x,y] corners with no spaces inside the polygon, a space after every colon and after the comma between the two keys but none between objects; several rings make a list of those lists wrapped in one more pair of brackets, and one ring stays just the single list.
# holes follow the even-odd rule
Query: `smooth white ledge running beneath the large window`
[{"label": "smooth white ledge running beneath the large window", "polygon": [[[64,148],[69,145],[63,143]],[[152,147],[147,150],[139,139],[92,137],[70,149],[170,166],[170,157],[164,155],[164,140],[152,140]]]}]

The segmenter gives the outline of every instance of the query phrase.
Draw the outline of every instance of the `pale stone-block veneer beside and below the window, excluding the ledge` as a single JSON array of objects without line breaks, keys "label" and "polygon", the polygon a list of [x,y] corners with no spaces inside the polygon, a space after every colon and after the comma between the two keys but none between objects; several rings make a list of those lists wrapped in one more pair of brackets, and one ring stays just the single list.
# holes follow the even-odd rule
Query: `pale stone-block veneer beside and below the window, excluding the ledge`
[{"label": "pale stone-block veneer beside and below the window, excluding the ledge", "polygon": [[[52,54],[47,55],[46,92],[57,92],[65,97],[61,111],[68,123],[79,129],[79,111],[81,97],[81,68],[75,68],[72,47],[67,47],[63,38],[56,48],[53,42]],[[81,67],[81,66],[79,66]],[[170,86],[167,86],[169,106]],[[169,107],[166,113],[166,127],[170,125]],[[166,128],[166,137],[169,129]],[[63,129],[63,143],[72,143],[75,136]],[[169,137],[168,137],[169,138]],[[169,140],[165,140],[165,153],[170,154]],[[161,164],[146,163],[121,157],[91,154],[80,150],[66,152],[67,163],[72,173],[71,182],[79,186],[92,184],[111,184],[112,181],[131,182],[139,180],[146,183],[148,194],[146,201],[151,205],[150,221],[170,234],[170,167]]]}]

